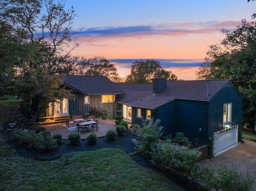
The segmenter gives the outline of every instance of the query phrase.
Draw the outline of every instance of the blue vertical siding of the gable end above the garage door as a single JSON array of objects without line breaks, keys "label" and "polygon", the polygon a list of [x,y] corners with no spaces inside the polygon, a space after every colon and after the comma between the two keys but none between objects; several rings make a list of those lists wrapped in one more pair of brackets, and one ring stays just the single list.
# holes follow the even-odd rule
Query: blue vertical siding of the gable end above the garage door
[{"label": "blue vertical siding of the gable end above the garage door", "polygon": [[229,126],[238,125],[238,131],[242,126],[242,96],[229,83],[223,87],[209,102],[208,113],[208,138],[213,136],[214,132],[226,129],[223,124],[224,104],[232,103],[232,116]]}]

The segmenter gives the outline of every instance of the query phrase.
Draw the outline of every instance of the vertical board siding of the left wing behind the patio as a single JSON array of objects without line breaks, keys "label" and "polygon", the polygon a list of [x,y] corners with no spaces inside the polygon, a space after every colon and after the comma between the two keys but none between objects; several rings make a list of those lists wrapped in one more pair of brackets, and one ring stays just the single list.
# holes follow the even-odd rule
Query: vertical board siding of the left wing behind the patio
[{"label": "vertical board siding of the left wing behind the patio", "polygon": [[100,111],[105,108],[110,111],[109,119],[114,119],[114,102],[102,103],[101,95],[90,95],[89,104],[84,104],[84,95],[77,93],[76,99],[69,100],[69,114],[82,114],[90,112],[91,109],[98,109]]}]

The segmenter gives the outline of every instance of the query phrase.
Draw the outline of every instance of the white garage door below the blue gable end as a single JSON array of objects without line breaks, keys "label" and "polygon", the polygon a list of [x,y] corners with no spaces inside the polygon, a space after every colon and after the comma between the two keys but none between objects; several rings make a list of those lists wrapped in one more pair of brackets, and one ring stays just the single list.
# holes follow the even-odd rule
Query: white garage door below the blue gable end
[{"label": "white garage door below the blue gable end", "polygon": [[238,125],[214,133],[213,154],[228,148],[238,141]]}]

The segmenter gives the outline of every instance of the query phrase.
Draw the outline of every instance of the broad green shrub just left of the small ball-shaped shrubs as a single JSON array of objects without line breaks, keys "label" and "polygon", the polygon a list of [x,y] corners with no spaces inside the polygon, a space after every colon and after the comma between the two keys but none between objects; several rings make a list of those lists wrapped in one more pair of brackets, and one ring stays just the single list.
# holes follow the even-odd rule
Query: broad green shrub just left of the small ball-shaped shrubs
[{"label": "broad green shrub just left of the small ball-shaped shrubs", "polygon": [[50,151],[57,147],[56,140],[48,134],[48,131],[40,131],[33,136],[33,144],[30,148],[37,151]]}]

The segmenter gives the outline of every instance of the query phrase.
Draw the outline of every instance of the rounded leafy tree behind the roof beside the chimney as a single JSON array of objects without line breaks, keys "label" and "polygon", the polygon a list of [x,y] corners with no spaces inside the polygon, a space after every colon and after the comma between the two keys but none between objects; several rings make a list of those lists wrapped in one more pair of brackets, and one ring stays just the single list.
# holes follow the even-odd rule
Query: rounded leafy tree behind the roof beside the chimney
[{"label": "rounded leafy tree behind the roof beside the chimney", "polygon": [[162,69],[155,60],[136,61],[131,65],[131,73],[126,76],[126,83],[148,83]]}]

